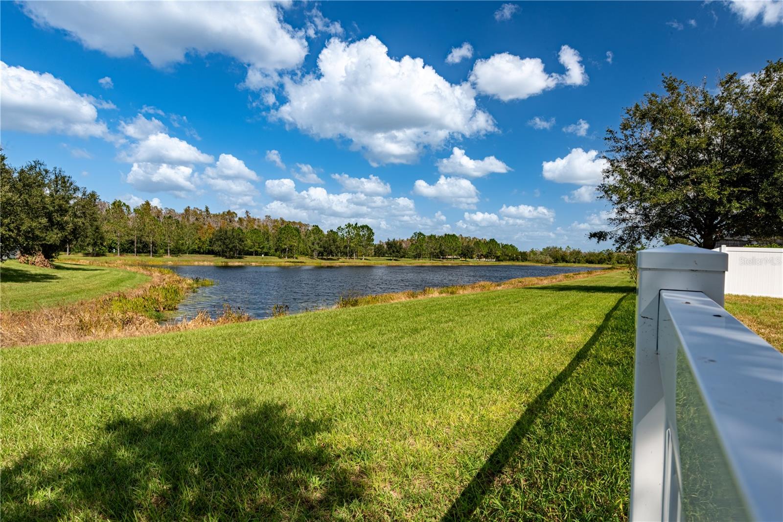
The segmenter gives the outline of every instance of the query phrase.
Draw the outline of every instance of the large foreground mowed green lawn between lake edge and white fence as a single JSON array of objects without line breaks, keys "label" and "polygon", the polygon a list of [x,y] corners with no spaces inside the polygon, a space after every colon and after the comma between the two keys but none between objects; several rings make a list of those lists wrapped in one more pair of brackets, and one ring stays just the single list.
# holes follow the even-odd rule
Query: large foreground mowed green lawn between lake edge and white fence
[{"label": "large foreground mowed green lawn between lake edge and white fence", "polygon": [[2,518],[624,520],[627,274],[2,352]]}]

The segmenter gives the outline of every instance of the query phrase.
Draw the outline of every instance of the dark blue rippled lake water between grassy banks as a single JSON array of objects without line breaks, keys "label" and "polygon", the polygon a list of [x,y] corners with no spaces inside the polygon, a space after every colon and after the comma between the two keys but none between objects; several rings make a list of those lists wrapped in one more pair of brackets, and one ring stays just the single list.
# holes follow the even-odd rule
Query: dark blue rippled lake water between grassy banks
[{"label": "dark blue rippled lake water between grassy banks", "polygon": [[344,294],[384,294],[426,287],[507,281],[594,270],[588,266],[169,266],[184,277],[206,277],[202,287],[180,304],[180,315],[207,310],[213,317],[223,304],[239,306],[252,317],[272,315],[272,306],[288,305],[295,314],[327,308]]}]

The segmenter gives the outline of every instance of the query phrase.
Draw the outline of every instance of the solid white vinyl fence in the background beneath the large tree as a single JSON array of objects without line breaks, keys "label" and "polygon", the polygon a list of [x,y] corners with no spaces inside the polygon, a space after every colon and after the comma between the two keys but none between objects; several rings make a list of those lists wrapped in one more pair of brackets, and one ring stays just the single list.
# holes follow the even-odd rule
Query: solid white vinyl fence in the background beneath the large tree
[{"label": "solid white vinyl fence in the background beneath the large tree", "polygon": [[715,248],[729,257],[726,293],[783,298],[783,248]]}]

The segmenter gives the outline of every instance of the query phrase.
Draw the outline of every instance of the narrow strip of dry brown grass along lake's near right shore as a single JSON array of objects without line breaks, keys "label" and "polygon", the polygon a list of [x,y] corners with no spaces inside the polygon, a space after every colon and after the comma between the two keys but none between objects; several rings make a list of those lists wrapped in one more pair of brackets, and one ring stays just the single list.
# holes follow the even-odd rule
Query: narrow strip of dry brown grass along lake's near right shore
[{"label": "narrow strip of dry brown grass along lake's near right shore", "polygon": [[[364,306],[380,303],[397,303],[410,301],[410,299],[426,299],[438,295],[474,294],[477,292],[489,292],[490,290],[506,290],[509,288],[525,288],[528,286],[551,285],[563,281],[574,281],[597,274],[606,274],[613,270],[625,270],[625,268],[608,268],[604,270],[588,270],[586,272],[574,272],[571,274],[558,274],[543,277],[520,277],[509,279],[500,283],[478,281],[471,285],[443,286],[439,288],[424,288],[424,290],[406,290],[405,292],[391,292],[378,295],[341,295],[337,301],[337,308],[350,308],[352,306]],[[629,281],[630,285],[630,281]]]}]

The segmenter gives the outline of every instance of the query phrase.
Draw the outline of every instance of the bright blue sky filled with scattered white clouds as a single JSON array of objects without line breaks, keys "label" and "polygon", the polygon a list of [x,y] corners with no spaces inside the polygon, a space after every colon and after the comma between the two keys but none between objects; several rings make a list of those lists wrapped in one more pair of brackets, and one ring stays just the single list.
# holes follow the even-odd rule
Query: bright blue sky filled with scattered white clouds
[{"label": "bright blue sky filled with scattered white clouds", "polygon": [[41,159],[109,201],[520,248],[595,248],[604,131],[662,73],[714,85],[783,54],[779,1],[2,2],[0,14],[13,165]]}]

